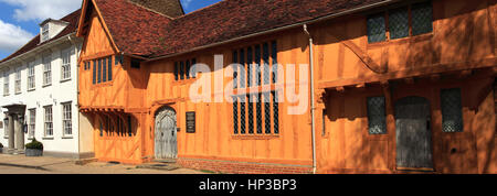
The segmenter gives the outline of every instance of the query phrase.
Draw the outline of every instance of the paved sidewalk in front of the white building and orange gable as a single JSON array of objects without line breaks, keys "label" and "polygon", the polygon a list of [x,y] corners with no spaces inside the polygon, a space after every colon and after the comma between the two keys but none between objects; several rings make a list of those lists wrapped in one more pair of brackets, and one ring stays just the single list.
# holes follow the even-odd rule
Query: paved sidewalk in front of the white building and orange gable
[{"label": "paved sidewalk in front of the white building and orange gable", "polygon": [[75,161],[50,156],[27,157],[0,154],[0,174],[204,174],[189,168],[162,171],[99,162],[76,165]]}]

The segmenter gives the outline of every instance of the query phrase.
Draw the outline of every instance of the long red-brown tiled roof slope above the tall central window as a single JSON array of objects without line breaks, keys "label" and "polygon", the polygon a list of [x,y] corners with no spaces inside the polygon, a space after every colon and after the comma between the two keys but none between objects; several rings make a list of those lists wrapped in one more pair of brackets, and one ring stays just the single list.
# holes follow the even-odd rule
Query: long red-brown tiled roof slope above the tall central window
[{"label": "long red-brown tiled roof slope above the tall central window", "polygon": [[186,52],[385,0],[224,0],[173,20],[151,56]]}]

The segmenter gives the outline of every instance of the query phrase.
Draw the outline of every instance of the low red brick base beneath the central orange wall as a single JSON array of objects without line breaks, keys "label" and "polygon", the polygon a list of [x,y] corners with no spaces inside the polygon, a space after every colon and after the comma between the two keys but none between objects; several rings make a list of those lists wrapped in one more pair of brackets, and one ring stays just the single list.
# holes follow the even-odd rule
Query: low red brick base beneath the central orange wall
[{"label": "low red brick base beneath the central orange wall", "polygon": [[226,174],[310,174],[311,166],[261,164],[200,159],[178,159],[177,164],[186,168],[205,170]]}]

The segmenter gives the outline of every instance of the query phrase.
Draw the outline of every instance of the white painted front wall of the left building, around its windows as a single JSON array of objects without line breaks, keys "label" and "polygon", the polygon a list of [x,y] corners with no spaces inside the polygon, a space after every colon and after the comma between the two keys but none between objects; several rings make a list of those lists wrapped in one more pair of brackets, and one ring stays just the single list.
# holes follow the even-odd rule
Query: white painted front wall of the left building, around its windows
[{"label": "white painted front wall of the left building, around its windows", "polygon": [[[77,154],[80,152],[80,112],[77,107],[77,57],[76,53],[81,51],[81,41],[74,45],[68,39],[65,39],[56,46],[50,47],[39,53],[23,56],[23,61],[8,62],[0,65],[0,106],[12,104],[27,105],[25,123],[29,124],[29,109],[36,109],[35,139],[43,143],[44,151],[55,153]],[[71,79],[62,79],[62,58],[63,50],[70,48],[71,53]],[[52,85],[43,86],[43,64],[42,57],[45,54],[52,55]],[[28,64],[34,59],[35,63],[35,89],[28,91]],[[9,96],[3,96],[3,72],[8,68],[9,73]],[[15,94],[15,69],[21,69],[21,92]],[[62,105],[71,101],[72,105],[72,135],[63,135],[62,122]],[[44,106],[52,105],[53,110],[53,137],[44,135]],[[2,109],[3,111],[6,109]],[[6,118],[4,113],[0,113],[0,119]],[[0,142],[7,148],[8,139],[6,138],[7,127],[0,129]],[[25,143],[29,143],[29,133],[25,134]]]}]

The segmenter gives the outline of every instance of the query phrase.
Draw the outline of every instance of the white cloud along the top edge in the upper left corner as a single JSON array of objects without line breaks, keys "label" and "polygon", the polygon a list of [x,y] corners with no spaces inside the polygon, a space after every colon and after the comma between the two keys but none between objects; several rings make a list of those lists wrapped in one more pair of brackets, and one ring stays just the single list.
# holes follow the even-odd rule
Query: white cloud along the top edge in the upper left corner
[{"label": "white cloud along the top edge in the upper left corner", "polygon": [[13,18],[18,21],[43,21],[45,19],[61,19],[75,11],[82,0],[0,0],[17,7]]}]

